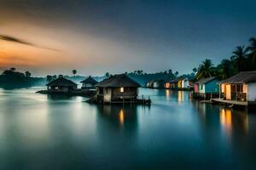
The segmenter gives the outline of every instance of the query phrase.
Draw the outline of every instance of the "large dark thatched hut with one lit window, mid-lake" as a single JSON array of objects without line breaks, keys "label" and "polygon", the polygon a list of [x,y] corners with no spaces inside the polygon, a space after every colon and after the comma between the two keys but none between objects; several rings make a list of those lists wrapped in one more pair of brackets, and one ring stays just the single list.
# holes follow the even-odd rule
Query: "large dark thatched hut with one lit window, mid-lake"
[{"label": "large dark thatched hut with one lit window, mid-lake", "polygon": [[140,87],[125,74],[115,75],[96,84],[96,98],[100,103],[136,102]]}]

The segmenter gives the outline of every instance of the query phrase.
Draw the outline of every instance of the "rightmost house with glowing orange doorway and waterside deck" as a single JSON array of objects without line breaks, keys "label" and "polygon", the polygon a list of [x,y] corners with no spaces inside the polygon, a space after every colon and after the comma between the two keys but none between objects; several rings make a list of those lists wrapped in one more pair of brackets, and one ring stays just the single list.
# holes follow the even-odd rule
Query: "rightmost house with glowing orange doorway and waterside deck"
[{"label": "rightmost house with glowing orange doorway and waterside deck", "polygon": [[256,71],[243,71],[219,82],[223,99],[233,105],[256,105]]}]

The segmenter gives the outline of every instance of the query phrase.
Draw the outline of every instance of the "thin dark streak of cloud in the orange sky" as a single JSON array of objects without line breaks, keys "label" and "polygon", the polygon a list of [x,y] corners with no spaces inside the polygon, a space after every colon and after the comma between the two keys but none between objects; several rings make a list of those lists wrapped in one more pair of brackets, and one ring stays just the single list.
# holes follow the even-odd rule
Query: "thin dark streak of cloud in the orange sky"
[{"label": "thin dark streak of cloud in the orange sky", "polygon": [[26,42],[26,41],[21,40],[19,38],[7,36],[7,35],[1,35],[0,34],[0,40],[8,41],[8,42],[20,43],[20,44],[23,44],[23,45],[29,45],[29,46],[33,46],[33,47],[37,47],[37,48],[44,48],[44,49],[48,49],[48,50],[51,50],[51,51],[61,51],[61,50],[55,49],[55,48],[46,48],[46,47],[38,46],[38,45],[33,44],[31,42]]}]

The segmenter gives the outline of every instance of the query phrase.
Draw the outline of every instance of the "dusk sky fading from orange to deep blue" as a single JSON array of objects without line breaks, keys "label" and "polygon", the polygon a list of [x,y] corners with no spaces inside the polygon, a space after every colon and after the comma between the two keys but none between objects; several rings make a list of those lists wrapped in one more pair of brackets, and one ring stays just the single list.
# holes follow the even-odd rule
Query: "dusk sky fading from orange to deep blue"
[{"label": "dusk sky fading from orange to deep blue", "polygon": [[179,71],[256,37],[256,0],[0,0],[0,71]]}]

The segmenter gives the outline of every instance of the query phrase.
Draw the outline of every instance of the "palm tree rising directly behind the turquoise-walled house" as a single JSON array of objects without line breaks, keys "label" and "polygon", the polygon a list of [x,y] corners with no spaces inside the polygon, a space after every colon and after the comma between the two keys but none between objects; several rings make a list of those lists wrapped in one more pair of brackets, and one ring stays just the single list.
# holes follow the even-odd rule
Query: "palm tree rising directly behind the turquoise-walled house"
[{"label": "palm tree rising directly behind the turquoise-walled house", "polygon": [[196,73],[196,78],[201,80],[202,78],[212,77],[213,75],[213,64],[211,59],[204,60],[199,65]]}]

